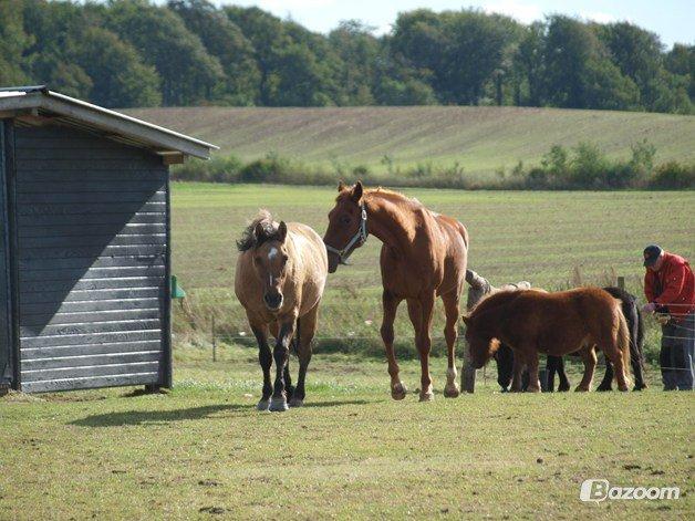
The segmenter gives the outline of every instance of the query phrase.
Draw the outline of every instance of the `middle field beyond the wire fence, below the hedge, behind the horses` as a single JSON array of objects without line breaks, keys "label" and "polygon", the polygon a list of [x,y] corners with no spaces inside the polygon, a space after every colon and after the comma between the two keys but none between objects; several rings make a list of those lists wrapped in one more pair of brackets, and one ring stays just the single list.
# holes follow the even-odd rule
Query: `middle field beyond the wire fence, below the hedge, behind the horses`
[{"label": "middle field beyond the wire fence, below the hedge, behind the horses", "polygon": [[[537,286],[560,289],[581,283],[614,283],[626,278],[627,289],[642,294],[642,249],[663,244],[687,258],[695,257],[695,192],[505,192],[406,190],[429,208],[457,217],[470,233],[469,264],[495,284],[529,280]],[[188,291],[184,308],[176,306],[180,342],[209,334],[215,315],[218,332],[248,334],[246,315],[234,296],[237,258],[235,239],[260,207],[278,219],[300,220],[319,235],[326,228],[335,191],[328,188],[283,186],[174,185],[174,272]],[[319,334],[378,341],[381,277],[378,249],[371,238],[355,252],[352,267],[329,278]],[[396,324],[398,336],[409,338],[405,306]],[[442,337],[437,313],[434,335]],[[651,337],[652,342],[654,337]],[[335,347],[326,341],[325,348]],[[412,342],[402,343],[412,348]],[[440,353],[442,341],[435,341]],[[411,350],[411,354],[413,354]]]}]

